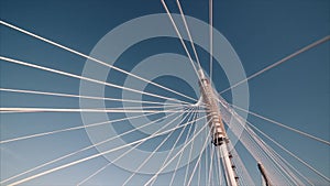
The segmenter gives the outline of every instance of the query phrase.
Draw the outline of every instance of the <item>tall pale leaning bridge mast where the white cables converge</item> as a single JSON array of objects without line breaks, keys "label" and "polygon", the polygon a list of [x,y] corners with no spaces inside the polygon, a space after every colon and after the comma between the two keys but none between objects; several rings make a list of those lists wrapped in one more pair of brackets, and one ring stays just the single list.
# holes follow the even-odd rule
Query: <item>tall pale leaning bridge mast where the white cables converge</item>
[{"label": "tall pale leaning bridge mast where the white cables converge", "polygon": [[208,114],[209,128],[211,130],[211,138],[215,147],[217,149],[221,164],[224,169],[224,176],[228,186],[238,186],[238,177],[234,173],[234,166],[232,165],[232,155],[228,151],[229,139],[227,136],[224,125],[221,119],[220,109],[216,99],[213,88],[210,85],[209,79],[205,76],[202,69],[198,70],[200,77],[199,87],[201,92],[202,102],[206,105],[206,112]]}]

